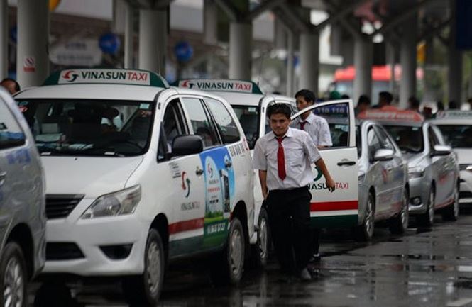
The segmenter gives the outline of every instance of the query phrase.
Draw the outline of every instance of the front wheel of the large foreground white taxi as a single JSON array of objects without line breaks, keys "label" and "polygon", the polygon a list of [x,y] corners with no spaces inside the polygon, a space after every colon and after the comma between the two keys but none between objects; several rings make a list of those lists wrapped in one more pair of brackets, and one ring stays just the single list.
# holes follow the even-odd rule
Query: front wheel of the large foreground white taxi
[{"label": "front wheel of the large foreground white taxi", "polygon": [[165,250],[158,230],[150,229],[144,254],[144,272],[125,277],[123,291],[130,306],[156,306],[163,288]]}]

